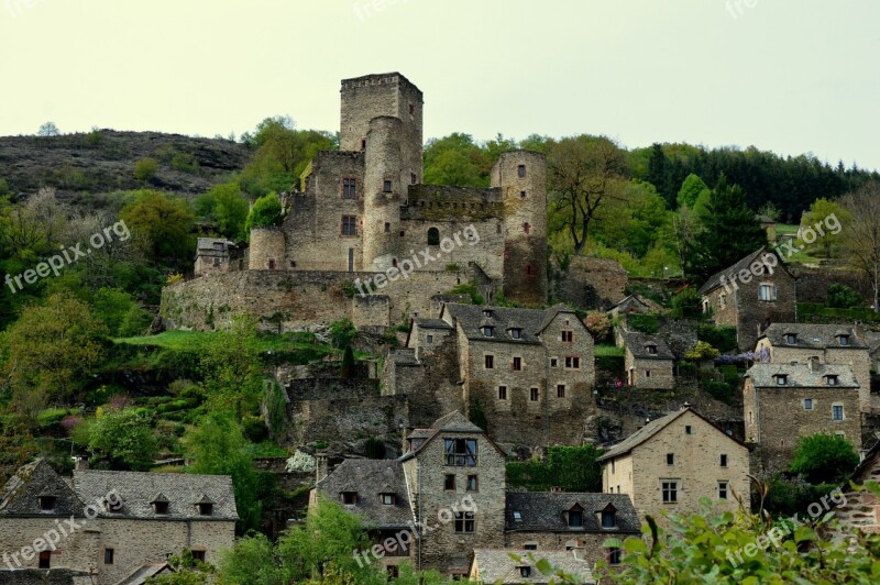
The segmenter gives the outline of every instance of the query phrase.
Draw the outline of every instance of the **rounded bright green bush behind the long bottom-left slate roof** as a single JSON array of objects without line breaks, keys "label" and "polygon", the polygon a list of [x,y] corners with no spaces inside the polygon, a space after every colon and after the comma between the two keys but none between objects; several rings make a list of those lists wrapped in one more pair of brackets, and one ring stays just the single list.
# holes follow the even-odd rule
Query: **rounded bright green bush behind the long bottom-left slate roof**
[{"label": "rounded bright green bush behind the long bottom-left slate roof", "polygon": [[141,409],[109,410],[89,427],[89,449],[114,470],[150,470],[158,446],[152,417]]}]

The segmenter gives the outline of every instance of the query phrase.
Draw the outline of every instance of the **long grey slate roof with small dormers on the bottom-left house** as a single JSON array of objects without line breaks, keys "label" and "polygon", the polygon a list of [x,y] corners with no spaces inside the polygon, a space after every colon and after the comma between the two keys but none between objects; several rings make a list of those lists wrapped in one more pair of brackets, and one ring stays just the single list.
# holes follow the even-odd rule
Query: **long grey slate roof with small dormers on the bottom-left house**
[{"label": "long grey slate roof with small dormers on the bottom-left house", "polygon": [[[142,473],[75,471],[74,488],[89,504],[101,501],[113,490],[122,498],[121,512],[106,512],[111,518],[238,520],[232,478],[228,475],[184,473]],[[168,499],[168,514],[156,515],[151,503],[157,496]],[[213,504],[211,516],[200,516],[196,503]]]}]

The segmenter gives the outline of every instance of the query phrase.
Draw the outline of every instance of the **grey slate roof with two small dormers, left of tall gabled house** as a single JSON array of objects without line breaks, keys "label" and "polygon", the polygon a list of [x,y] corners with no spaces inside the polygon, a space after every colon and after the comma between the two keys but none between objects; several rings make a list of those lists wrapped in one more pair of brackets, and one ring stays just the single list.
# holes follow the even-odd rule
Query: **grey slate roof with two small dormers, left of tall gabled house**
[{"label": "grey slate roof with two small dormers, left of tall gabled house", "polygon": [[[369,528],[399,529],[414,521],[400,460],[348,459],[315,487],[340,504],[343,492],[356,492],[356,504],[343,507],[362,516]],[[397,496],[396,504],[382,503],[380,495],[388,492]]]}]

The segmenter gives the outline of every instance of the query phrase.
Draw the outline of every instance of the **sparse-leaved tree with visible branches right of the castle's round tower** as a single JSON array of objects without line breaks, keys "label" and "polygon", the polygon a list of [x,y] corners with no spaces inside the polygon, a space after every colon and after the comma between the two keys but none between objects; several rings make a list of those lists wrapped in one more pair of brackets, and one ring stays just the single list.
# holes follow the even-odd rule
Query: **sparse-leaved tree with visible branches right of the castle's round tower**
[{"label": "sparse-leaved tree with visible branches right of the castle's round tower", "polygon": [[556,143],[548,156],[551,205],[562,216],[574,253],[586,245],[590,223],[609,199],[619,198],[626,157],[605,136],[574,136]]}]

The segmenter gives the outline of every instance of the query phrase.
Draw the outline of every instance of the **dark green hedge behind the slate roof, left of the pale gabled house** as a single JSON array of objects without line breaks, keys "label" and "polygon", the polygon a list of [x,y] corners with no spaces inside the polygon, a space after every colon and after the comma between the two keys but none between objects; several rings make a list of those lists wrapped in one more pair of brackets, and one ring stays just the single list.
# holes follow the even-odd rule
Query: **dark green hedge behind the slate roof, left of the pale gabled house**
[{"label": "dark green hedge behind the slate roof, left of the pale gabled house", "polygon": [[507,464],[507,482],[530,492],[561,487],[565,492],[602,492],[602,465],[596,461],[603,450],[592,444],[551,446],[546,463],[538,461]]}]

